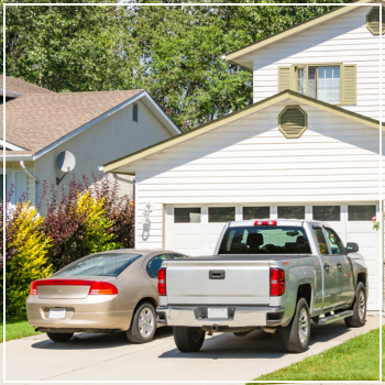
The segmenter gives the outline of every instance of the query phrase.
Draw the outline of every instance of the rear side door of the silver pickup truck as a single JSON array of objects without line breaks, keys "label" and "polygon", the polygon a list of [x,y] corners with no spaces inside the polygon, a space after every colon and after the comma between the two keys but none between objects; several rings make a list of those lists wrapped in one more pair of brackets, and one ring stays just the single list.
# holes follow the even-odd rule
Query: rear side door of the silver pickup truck
[{"label": "rear side door of the silver pickup truck", "polygon": [[337,258],[332,255],[329,245],[324,239],[321,227],[314,227],[316,241],[322,262],[323,270],[323,306],[322,310],[331,310],[336,306],[337,300]]}]

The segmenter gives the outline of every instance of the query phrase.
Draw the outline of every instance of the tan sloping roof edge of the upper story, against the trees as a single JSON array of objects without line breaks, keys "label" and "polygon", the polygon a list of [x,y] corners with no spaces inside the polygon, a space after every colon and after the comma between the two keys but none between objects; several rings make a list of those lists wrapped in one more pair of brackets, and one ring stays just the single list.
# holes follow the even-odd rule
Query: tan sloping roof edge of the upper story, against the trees
[{"label": "tan sloping roof edge of the upper story, against the trees", "polygon": [[333,9],[329,12],[326,12],[319,16],[316,16],[314,19],[304,21],[295,26],[292,26],[285,31],[278,32],[274,35],[271,35],[268,37],[262,38],[255,43],[252,43],[250,45],[246,45],[243,48],[233,51],[229,54],[226,54],[224,57],[228,62],[234,63],[237,65],[240,65],[242,67],[245,67],[248,69],[253,69],[253,63],[252,61],[242,57],[244,55],[249,55],[251,53],[254,53],[257,50],[261,50],[270,44],[276,43],[283,38],[289,37],[296,33],[302,32],[305,30],[308,30],[312,26],[316,26],[318,24],[321,24],[326,21],[332,20],[334,18],[338,18],[342,14],[345,14],[348,12],[353,11],[354,9],[356,9],[358,7],[362,6],[362,4],[367,4],[367,3],[384,3],[381,0],[358,0],[358,1],[353,1],[351,3],[345,3],[344,7],[338,7],[337,9]]}]

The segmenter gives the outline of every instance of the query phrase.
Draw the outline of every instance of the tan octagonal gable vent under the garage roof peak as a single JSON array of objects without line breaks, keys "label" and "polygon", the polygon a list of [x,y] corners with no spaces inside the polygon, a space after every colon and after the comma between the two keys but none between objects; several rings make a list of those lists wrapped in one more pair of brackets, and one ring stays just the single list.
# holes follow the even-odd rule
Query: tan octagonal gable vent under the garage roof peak
[{"label": "tan octagonal gable vent under the garage roof peak", "polygon": [[299,138],[307,129],[307,114],[299,106],[287,106],[279,113],[278,123],[287,139]]}]

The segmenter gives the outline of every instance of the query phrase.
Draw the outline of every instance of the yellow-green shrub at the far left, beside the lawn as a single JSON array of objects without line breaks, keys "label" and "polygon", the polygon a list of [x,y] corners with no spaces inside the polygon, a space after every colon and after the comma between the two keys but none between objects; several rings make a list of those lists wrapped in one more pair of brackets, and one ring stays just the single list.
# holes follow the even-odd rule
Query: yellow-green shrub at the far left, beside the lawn
[{"label": "yellow-green shrub at the far left, beside the lawn", "polygon": [[[6,233],[6,305],[7,317],[25,311],[30,284],[53,273],[47,265],[51,239],[41,233],[43,219],[30,202],[19,201],[11,216],[7,216]],[[2,230],[4,229],[1,219]],[[2,266],[3,267],[3,266]],[[1,270],[2,289],[3,268]]]}]

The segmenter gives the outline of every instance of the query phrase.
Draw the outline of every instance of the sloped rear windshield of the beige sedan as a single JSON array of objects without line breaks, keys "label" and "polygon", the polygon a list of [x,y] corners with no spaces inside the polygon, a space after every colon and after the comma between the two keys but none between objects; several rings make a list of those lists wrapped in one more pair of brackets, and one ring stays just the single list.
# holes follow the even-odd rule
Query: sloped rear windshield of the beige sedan
[{"label": "sloped rear windshield of the beige sedan", "polygon": [[64,267],[56,276],[110,276],[116,277],[142,255],[134,253],[108,253],[89,255]]}]

